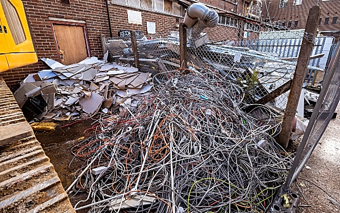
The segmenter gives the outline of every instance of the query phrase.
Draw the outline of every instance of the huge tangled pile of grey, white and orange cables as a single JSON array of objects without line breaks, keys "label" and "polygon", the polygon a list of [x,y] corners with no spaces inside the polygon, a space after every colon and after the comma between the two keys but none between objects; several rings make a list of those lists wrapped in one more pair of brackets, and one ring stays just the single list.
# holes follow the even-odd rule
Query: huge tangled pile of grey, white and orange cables
[{"label": "huge tangled pile of grey, white and orange cables", "polygon": [[273,139],[279,123],[241,110],[243,94],[210,70],[174,74],[135,108],[97,119],[72,149],[85,163],[70,194],[88,193],[76,210],[265,212],[292,158]]}]

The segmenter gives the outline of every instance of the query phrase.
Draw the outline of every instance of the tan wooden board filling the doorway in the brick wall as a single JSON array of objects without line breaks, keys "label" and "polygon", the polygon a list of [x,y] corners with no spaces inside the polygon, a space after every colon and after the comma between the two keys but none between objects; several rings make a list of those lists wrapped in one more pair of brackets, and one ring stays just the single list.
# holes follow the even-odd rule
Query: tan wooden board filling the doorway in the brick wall
[{"label": "tan wooden board filling the doorway in the brick wall", "polygon": [[82,26],[53,24],[53,29],[60,61],[63,64],[78,63],[88,57]]}]

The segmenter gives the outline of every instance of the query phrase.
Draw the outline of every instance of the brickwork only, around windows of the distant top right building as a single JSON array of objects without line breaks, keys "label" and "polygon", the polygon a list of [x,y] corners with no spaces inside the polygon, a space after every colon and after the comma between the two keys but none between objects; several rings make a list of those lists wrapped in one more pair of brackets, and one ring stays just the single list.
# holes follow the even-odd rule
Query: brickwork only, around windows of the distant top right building
[{"label": "brickwork only, around windows of the distant top right building", "polygon": [[[267,1],[268,2],[268,1]],[[301,5],[293,6],[293,0],[288,0],[287,7],[279,8],[280,0],[272,0],[269,6],[269,16],[274,17],[272,21],[299,20],[298,27],[305,29],[309,9],[316,5],[316,1],[302,0]],[[333,16],[340,15],[340,4],[338,0],[319,0],[321,7],[322,22],[318,26],[319,30],[340,30],[340,19],[337,24],[332,24]],[[263,17],[267,16],[267,8],[263,5]],[[324,24],[324,18],[329,16],[329,24]]]}]

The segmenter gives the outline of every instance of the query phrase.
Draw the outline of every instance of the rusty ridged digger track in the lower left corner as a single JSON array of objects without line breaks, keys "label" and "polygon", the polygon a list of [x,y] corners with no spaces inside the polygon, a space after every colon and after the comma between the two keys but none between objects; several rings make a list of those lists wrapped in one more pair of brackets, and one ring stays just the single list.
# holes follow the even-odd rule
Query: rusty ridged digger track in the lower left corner
[{"label": "rusty ridged digger track in the lower left corner", "polygon": [[[18,133],[0,146],[0,213],[75,213],[50,159],[28,124],[12,92],[0,78],[0,131]],[[29,127],[30,128],[30,127]],[[1,138],[0,138],[1,139]]]}]

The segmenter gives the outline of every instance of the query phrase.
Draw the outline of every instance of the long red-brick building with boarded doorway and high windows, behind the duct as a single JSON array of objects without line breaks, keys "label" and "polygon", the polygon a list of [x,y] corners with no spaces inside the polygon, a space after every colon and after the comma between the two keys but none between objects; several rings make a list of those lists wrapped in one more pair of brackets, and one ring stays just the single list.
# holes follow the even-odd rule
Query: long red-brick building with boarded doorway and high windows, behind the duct
[{"label": "long red-brick building with boarded doorway and high windows, behind the duct", "polygon": [[[156,23],[156,32],[176,30],[177,25],[183,21],[187,6],[190,3],[196,2],[162,0],[163,9],[160,10],[163,11],[154,11],[153,9],[147,8],[154,8],[154,6],[148,5],[148,1],[155,1],[114,1],[115,2],[111,1],[109,4],[113,36],[118,36],[119,30],[140,30],[142,33],[147,34],[147,21]],[[22,2],[31,28],[38,62],[0,73],[0,76],[5,79],[12,91],[18,88],[19,82],[28,74],[36,73],[43,69],[49,69],[49,67],[40,60],[41,58],[50,58],[55,61],[60,61],[59,52],[57,50],[58,46],[55,42],[55,33],[52,30],[53,24],[63,23],[69,24],[70,26],[83,26],[87,43],[87,56],[102,58],[100,35],[104,34],[105,36],[109,36],[109,23],[105,0],[22,0]],[[223,20],[226,21],[220,23],[217,28],[218,30],[216,29],[217,32],[221,34],[221,40],[223,38],[230,40],[243,39],[244,20],[243,25],[241,24],[241,20],[238,20],[238,17],[245,14],[244,8],[246,4],[243,0],[238,0],[238,2],[235,1],[235,3],[224,0],[203,0],[202,2],[216,10],[218,13],[229,13],[223,14],[223,16],[225,16],[225,19]],[[137,5],[138,3],[139,6]],[[146,8],[141,8],[142,4],[146,5],[144,6]],[[182,6],[179,7],[178,5]],[[128,23],[127,10],[141,12],[142,24]],[[231,23],[230,26],[227,25],[229,23],[228,20],[229,22],[235,22],[235,26],[231,26]],[[249,33],[253,33],[254,36],[258,34],[257,32]],[[217,38],[218,37],[220,36],[217,36]]]}]

